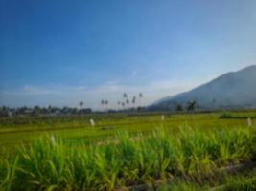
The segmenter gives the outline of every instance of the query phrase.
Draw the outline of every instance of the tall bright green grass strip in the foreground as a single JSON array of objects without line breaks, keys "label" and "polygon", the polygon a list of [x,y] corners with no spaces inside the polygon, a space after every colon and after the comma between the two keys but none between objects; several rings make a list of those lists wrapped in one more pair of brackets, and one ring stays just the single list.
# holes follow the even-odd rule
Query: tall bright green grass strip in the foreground
[{"label": "tall bright green grass strip in the foreground", "polygon": [[183,179],[203,184],[229,164],[256,154],[253,128],[159,128],[121,131],[101,144],[38,138],[0,160],[4,190],[114,190]]}]

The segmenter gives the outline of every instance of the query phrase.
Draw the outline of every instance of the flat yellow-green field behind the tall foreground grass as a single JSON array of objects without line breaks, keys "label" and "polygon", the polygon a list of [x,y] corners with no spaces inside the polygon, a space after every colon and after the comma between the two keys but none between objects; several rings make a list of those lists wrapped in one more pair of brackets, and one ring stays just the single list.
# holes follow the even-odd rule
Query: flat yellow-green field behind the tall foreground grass
[{"label": "flat yellow-green field behind the tall foreground grass", "polygon": [[[29,143],[40,136],[54,134],[70,141],[89,141],[113,135],[120,130],[147,132],[159,127],[190,126],[202,130],[212,127],[245,127],[247,116],[256,112],[236,112],[240,118],[220,118],[222,113],[211,114],[99,114],[79,117],[15,117],[0,119],[0,152],[21,142]],[[245,118],[241,118],[245,117]],[[90,124],[90,119],[96,123]]]}]

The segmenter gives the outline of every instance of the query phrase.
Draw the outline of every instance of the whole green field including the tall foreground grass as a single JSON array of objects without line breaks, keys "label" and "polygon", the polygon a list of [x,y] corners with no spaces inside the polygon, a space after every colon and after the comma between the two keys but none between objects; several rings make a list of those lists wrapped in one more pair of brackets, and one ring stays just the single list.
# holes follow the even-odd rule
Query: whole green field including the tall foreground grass
[{"label": "whole green field including the tall foreground grass", "polygon": [[0,190],[255,190],[255,114],[2,118]]}]

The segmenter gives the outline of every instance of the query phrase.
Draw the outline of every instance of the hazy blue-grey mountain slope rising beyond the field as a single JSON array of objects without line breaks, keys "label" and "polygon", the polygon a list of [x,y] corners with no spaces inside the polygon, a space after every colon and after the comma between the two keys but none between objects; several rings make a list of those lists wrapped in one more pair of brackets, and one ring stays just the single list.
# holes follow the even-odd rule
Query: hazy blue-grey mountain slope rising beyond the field
[{"label": "hazy blue-grey mountain slope rising beyond the field", "polygon": [[256,107],[256,65],[222,74],[197,88],[154,102],[150,110],[175,110],[196,100],[202,109]]}]

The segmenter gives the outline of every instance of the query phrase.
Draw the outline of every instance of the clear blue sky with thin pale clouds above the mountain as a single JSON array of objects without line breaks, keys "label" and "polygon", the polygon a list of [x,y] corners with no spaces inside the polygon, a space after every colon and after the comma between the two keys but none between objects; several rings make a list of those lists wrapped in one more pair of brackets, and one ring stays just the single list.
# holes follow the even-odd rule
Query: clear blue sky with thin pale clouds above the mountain
[{"label": "clear blue sky with thin pale clouds above the mountain", "polygon": [[0,0],[0,105],[141,104],[256,62],[255,0]]}]

